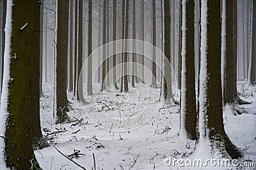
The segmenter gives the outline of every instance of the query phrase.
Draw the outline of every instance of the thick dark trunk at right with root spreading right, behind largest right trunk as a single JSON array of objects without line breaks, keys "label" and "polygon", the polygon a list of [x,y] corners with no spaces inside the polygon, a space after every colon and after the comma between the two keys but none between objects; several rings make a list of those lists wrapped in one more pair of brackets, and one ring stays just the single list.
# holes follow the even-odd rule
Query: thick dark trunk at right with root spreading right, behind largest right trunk
[{"label": "thick dark trunk at right with root spreading right, behind largest right trunk", "polygon": [[[223,56],[223,103],[249,104],[237,95],[237,3],[226,1],[226,52]],[[231,30],[231,31],[230,31]]]}]

